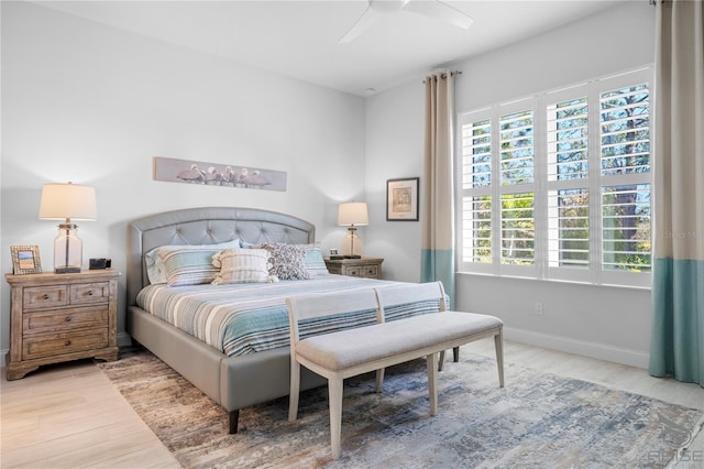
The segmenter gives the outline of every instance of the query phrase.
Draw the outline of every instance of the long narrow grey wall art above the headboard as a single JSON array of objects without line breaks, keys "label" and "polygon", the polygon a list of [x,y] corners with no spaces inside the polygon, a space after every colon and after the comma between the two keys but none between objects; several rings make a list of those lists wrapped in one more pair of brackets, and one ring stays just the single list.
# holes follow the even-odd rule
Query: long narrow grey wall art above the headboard
[{"label": "long narrow grey wall art above the headboard", "polygon": [[154,157],[154,181],[245,189],[286,190],[286,172],[234,164]]}]

